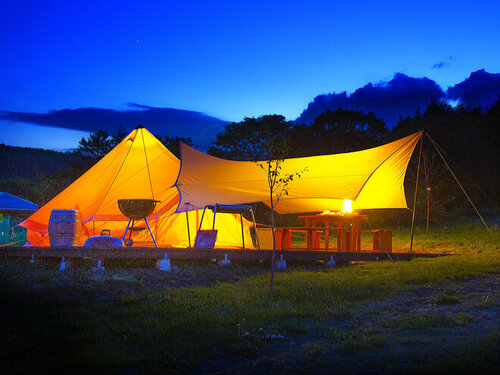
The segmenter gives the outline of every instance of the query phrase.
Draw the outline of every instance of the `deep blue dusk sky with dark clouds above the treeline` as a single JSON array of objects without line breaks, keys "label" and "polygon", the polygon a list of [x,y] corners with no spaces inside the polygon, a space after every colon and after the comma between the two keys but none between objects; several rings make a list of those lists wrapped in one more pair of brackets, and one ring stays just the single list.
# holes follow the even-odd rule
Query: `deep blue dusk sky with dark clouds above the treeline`
[{"label": "deep blue dusk sky with dark clouds above the treeline", "polygon": [[[407,87],[408,97],[425,92],[421,109],[431,96],[465,98],[473,84],[490,101],[500,93],[499,14],[498,0],[2,1],[0,143],[72,148],[96,127],[137,122],[203,143],[196,135],[225,121],[307,121],[325,102],[390,124],[391,100]],[[388,86],[399,91],[382,95],[384,108],[361,99]]]}]

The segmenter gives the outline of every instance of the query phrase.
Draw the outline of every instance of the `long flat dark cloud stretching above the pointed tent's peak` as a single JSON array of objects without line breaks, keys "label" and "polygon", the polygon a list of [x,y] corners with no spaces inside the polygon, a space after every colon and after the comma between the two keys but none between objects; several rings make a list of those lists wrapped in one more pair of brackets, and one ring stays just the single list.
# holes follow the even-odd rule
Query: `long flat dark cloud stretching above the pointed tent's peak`
[{"label": "long flat dark cloud stretching above the pointed tent's peak", "polygon": [[131,109],[123,111],[103,108],[61,109],[48,113],[0,111],[0,119],[84,131],[104,129],[111,134],[120,127],[128,132],[142,124],[153,134],[191,137],[201,148],[215,140],[215,135],[228,123],[201,112],[136,103],[128,103],[128,106]]}]

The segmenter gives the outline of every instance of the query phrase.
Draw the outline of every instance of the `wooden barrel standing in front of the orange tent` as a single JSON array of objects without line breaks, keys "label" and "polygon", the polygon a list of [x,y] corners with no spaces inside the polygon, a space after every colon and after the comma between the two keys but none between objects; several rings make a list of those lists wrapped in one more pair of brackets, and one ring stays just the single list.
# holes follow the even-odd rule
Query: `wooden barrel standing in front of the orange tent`
[{"label": "wooden barrel standing in front of the orange tent", "polygon": [[80,231],[80,214],[77,210],[52,210],[49,220],[50,246],[76,246]]}]

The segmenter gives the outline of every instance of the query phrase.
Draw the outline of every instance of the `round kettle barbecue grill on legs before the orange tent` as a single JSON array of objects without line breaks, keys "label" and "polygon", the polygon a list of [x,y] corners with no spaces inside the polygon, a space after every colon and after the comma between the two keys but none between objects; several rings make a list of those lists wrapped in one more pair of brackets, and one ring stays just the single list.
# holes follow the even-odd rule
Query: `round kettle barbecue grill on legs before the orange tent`
[{"label": "round kettle barbecue grill on legs before the orange tent", "polygon": [[[155,237],[153,236],[153,232],[149,227],[147,219],[147,217],[153,213],[156,204],[158,202],[160,201],[154,199],[118,200],[118,208],[120,209],[121,213],[129,218],[127,229],[125,229],[125,233],[123,234],[123,241],[127,246],[131,246],[133,243],[132,240],[130,239],[130,237],[132,237],[132,232],[138,232],[146,229],[144,227],[134,227],[134,224],[137,220],[144,220],[146,222],[147,229],[149,230],[149,234],[151,234],[151,238],[153,239],[155,246],[158,247],[158,245],[156,244]],[[132,225],[130,225],[130,222],[132,222]],[[127,236],[127,232],[129,232],[128,240],[125,239]]]}]

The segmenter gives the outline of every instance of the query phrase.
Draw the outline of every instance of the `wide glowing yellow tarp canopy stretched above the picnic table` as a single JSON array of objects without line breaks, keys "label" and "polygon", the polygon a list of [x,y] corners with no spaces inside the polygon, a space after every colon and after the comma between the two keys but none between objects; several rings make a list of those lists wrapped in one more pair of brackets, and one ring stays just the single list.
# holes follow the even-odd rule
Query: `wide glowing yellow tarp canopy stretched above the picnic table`
[{"label": "wide glowing yellow tarp canopy stretched above the picnic table", "polygon": [[[300,172],[287,185],[275,210],[279,213],[341,211],[342,200],[353,209],[407,208],[404,177],[422,133],[371,149],[344,154],[285,159],[281,175]],[[181,195],[177,212],[205,205],[264,202],[270,204],[265,161],[232,161],[181,144]]]}]

